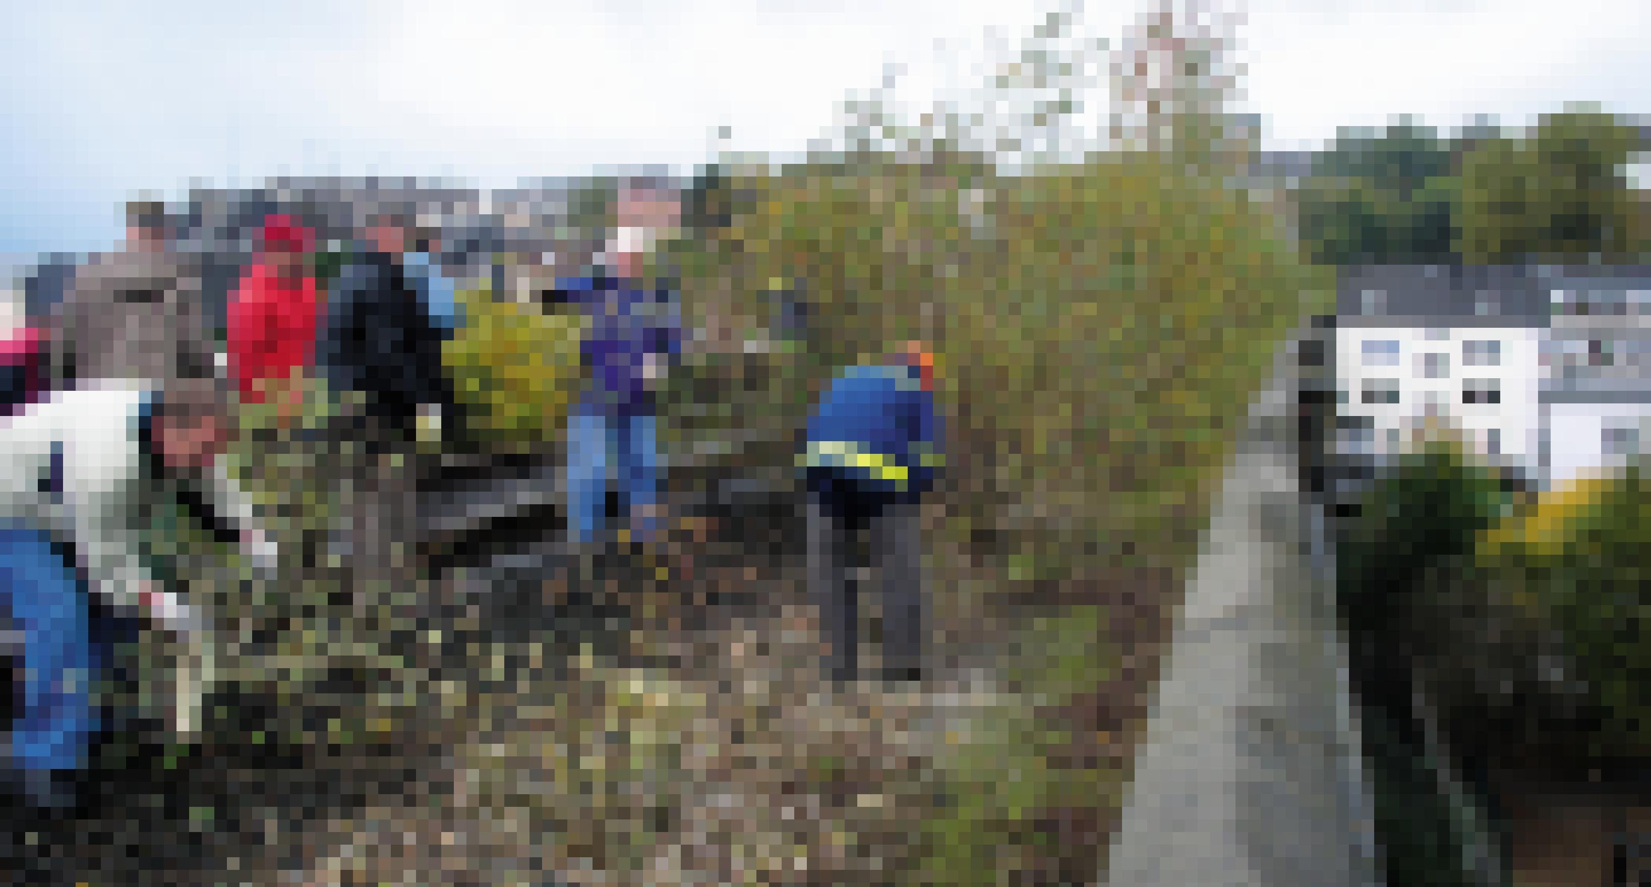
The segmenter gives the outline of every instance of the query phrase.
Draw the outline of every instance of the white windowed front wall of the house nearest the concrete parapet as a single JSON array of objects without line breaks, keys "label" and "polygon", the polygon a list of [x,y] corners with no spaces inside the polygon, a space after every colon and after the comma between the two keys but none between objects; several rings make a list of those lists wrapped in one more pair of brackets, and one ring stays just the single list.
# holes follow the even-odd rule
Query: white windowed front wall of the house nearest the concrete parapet
[{"label": "white windowed front wall of the house nearest the concrete parapet", "polygon": [[[1496,451],[1535,471],[1542,332],[1540,327],[1341,327],[1336,335],[1341,415],[1372,420],[1374,453],[1390,454],[1403,449],[1407,429],[1433,403],[1481,453]],[[1469,365],[1468,352],[1484,349],[1469,349],[1468,342],[1496,342],[1494,365]],[[1367,350],[1367,344],[1375,345]],[[1494,383],[1499,403],[1464,403],[1469,380]],[[1397,403],[1365,403],[1367,385],[1395,387]]]}]

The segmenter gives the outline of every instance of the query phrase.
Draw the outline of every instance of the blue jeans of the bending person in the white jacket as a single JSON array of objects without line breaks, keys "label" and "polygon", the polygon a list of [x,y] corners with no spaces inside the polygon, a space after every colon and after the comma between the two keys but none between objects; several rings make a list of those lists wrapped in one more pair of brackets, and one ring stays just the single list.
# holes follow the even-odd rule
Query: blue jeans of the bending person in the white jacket
[{"label": "blue jeans of the bending person in the white jacket", "polygon": [[0,608],[23,636],[21,712],[12,725],[12,763],[20,770],[81,766],[99,728],[86,603],[74,570],[46,534],[0,529]]}]

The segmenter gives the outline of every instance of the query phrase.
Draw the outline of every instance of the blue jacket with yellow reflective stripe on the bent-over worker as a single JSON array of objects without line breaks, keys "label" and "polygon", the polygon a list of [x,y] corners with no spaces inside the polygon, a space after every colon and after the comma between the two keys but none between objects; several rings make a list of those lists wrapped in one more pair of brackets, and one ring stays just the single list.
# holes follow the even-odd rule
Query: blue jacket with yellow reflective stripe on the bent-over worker
[{"label": "blue jacket with yellow reflective stripe on the bent-over worker", "polygon": [[908,367],[854,367],[832,380],[804,431],[801,466],[868,492],[920,496],[943,466],[934,395]]}]

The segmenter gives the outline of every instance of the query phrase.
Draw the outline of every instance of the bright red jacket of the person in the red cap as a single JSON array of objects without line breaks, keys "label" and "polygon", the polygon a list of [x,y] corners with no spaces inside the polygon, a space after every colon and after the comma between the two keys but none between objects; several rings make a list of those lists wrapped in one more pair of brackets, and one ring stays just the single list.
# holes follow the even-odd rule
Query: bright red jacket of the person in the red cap
[{"label": "bright red jacket of the person in the red cap", "polygon": [[287,284],[259,263],[241,279],[229,302],[225,339],[243,401],[264,401],[254,382],[286,378],[294,367],[314,363],[315,311],[314,277]]}]

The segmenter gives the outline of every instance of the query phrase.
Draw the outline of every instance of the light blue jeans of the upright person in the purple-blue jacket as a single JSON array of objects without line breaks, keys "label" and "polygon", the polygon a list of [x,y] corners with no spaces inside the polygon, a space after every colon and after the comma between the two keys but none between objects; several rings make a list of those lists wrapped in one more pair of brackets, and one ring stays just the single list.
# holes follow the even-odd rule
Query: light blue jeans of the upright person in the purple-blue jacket
[{"label": "light blue jeans of the upright person in the purple-blue jacket", "polygon": [[646,509],[637,522],[644,538],[659,532],[657,421],[650,415],[611,416],[580,406],[568,418],[568,538],[586,543],[603,532],[608,517],[609,469],[617,471],[619,491],[632,510]]}]

